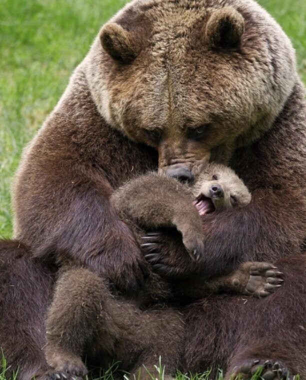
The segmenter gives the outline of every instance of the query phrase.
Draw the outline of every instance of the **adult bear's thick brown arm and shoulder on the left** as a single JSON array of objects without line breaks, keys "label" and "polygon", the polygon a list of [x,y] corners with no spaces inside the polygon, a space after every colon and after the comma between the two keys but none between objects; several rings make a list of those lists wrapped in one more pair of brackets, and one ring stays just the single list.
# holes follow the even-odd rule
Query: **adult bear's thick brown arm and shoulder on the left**
[{"label": "adult bear's thick brown arm and shoulder on the left", "polygon": [[89,267],[121,291],[137,291],[146,262],[109,197],[156,157],[105,123],[86,84],[80,88],[81,73],[75,82],[21,160],[14,237],[37,257]]}]

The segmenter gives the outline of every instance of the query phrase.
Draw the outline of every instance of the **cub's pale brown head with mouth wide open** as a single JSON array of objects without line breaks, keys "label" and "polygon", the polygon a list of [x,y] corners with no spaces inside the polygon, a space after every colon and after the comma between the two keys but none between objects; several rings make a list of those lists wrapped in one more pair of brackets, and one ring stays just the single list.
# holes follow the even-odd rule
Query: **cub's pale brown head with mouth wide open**
[{"label": "cub's pale brown head with mouth wide open", "polygon": [[210,163],[199,174],[192,188],[200,215],[232,207],[242,207],[251,194],[235,172],[222,164]]}]

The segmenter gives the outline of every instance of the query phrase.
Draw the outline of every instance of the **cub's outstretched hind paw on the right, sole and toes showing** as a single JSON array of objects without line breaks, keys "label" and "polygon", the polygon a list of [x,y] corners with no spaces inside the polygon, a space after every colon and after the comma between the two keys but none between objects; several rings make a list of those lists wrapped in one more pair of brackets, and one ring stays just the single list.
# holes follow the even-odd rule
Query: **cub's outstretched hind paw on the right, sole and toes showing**
[{"label": "cub's outstretched hind paw on the right, sole and toes showing", "polygon": [[245,263],[249,270],[249,279],[245,286],[247,294],[266,297],[281,286],[283,273],[268,262]]}]

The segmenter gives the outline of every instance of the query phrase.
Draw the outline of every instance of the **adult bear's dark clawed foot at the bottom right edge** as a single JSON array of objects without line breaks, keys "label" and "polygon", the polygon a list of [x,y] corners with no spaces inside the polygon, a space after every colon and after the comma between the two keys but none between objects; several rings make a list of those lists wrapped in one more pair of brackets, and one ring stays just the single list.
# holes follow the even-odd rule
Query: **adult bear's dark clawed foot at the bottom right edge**
[{"label": "adult bear's dark clawed foot at the bottom right edge", "polygon": [[285,365],[279,361],[273,360],[245,360],[241,365],[234,368],[233,373],[225,375],[225,379],[250,379],[254,373],[258,374],[263,380],[286,380],[292,379],[293,376]]}]

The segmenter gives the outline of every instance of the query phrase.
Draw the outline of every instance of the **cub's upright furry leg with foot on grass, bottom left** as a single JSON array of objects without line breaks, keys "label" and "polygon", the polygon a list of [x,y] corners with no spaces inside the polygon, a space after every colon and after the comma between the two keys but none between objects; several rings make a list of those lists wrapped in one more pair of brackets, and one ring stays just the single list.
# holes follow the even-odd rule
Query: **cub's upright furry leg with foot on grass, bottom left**
[{"label": "cub's upright furry leg with foot on grass, bottom left", "polygon": [[107,312],[108,296],[103,280],[85,268],[70,268],[57,280],[47,315],[44,348],[57,378],[87,373],[81,356]]}]

